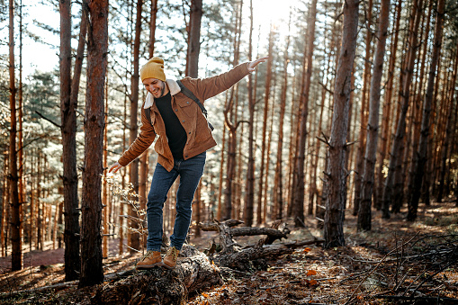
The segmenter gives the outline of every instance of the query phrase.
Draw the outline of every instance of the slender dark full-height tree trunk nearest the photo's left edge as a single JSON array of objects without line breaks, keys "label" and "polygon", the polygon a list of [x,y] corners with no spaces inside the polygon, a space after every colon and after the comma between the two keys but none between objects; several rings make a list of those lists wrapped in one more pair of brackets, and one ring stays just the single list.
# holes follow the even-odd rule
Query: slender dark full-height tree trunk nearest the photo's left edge
[{"label": "slender dark full-height tree trunk nearest the photo's left edge", "polygon": [[9,25],[9,46],[10,46],[10,200],[12,207],[11,218],[11,268],[13,271],[22,269],[22,242],[21,242],[21,202],[19,202],[17,150],[16,150],[16,86],[14,77],[14,3],[9,3],[10,25]]}]

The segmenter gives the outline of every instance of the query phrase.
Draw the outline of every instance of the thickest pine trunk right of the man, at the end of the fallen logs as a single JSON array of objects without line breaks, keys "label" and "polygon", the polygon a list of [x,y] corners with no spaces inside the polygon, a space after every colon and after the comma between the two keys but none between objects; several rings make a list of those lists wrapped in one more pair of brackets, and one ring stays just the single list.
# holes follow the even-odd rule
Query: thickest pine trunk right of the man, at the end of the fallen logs
[{"label": "thickest pine trunk right of the man, at the end of the fallen logs", "polygon": [[356,0],[349,0],[344,4],[342,48],[338,58],[334,85],[334,113],[328,142],[325,247],[345,246],[343,222],[346,203],[346,133],[358,29],[358,4]]}]

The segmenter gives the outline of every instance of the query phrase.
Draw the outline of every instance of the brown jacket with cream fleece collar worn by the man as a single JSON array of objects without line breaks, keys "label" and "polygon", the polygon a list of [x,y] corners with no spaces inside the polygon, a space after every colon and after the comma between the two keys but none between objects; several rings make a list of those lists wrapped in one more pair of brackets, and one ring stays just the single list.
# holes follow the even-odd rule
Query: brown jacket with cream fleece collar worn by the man
[{"label": "brown jacket with cream fleece collar worn by the man", "polygon": [[[219,76],[204,79],[185,77],[182,79],[182,83],[203,103],[203,101],[211,96],[228,90],[240,79],[247,76],[247,74],[247,63],[244,63]],[[166,83],[172,95],[172,108],[175,110],[176,116],[188,136],[183,150],[184,160],[197,156],[207,149],[216,146],[216,141],[211,135],[211,130],[201,108],[180,91],[180,86],[175,80],[167,79]],[[148,121],[145,114],[145,109],[149,107],[151,107],[151,121]],[[139,136],[130,145],[130,148],[122,154],[118,160],[119,164],[121,166],[127,166],[132,160],[139,157],[139,155],[149,148],[154,139],[156,139],[156,136],[159,136],[155,145],[158,155],[157,162],[170,172],[174,167],[174,157],[168,147],[164,121],[157,110],[152,94],[149,93],[145,103],[141,107],[141,123]]]}]

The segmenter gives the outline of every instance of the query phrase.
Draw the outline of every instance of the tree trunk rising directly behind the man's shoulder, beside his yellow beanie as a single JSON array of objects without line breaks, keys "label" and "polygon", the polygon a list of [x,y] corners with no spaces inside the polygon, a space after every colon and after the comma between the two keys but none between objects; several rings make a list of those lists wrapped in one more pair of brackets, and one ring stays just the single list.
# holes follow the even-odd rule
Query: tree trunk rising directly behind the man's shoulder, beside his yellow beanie
[{"label": "tree trunk rising directly behind the man's shoulder, beside his yellow beanie", "polygon": [[196,78],[199,72],[199,53],[201,51],[201,20],[202,0],[191,0],[186,76],[191,76],[193,78]]}]

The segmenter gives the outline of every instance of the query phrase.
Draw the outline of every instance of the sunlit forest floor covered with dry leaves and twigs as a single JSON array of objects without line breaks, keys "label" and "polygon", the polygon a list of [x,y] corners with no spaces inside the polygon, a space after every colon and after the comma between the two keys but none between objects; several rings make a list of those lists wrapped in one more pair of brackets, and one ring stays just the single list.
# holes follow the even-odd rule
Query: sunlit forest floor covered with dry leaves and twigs
[{"label": "sunlit forest floor covered with dry leaves and twigs", "polygon": [[[307,228],[293,229],[287,240],[320,238],[316,220]],[[224,284],[191,295],[187,304],[457,304],[458,303],[458,207],[454,202],[420,204],[418,220],[409,223],[405,211],[382,220],[373,212],[370,232],[356,231],[356,217],[346,214],[346,247],[296,248],[277,257],[265,270],[224,273]],[[193,238],[202,250],[216,233]],[[235,238],[252,245],[260,237]],[[116,239],[103,260],[104,274],[131,270],[140,255],[116,255]],[[40,287],[64,283],[64,251],[24,248],[24,269],[11,272],[11,257],[0,258],[0,304],[90,303],[91,288],[77,283],[37,292]],[[103,283],[106,284],[106,283]],[[35,291],[33,291],[35,289]],[[12,292],[15,293],[12,296]]]}]

